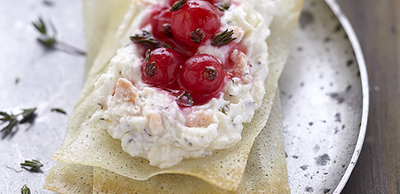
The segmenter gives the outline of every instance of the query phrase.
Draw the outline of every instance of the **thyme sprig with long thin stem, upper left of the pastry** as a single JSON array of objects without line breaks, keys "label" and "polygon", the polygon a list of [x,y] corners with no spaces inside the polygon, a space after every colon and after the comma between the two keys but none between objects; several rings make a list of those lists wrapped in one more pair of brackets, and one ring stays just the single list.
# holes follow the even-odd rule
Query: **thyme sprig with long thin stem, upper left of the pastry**
[{"label": "thyme sprig with long thin stem, upper left of the pastry", "polygon": [[47,48],[55,48],[55,46],[58,45],[60,47],[63,47],[63,49],[65,49],[67,51],[72,51],[72,52],[80,54],[80,55],[86,55],[85,51],[82,51],[81,49],[78,49],[74,46],[71,46],[67,43],[57,40],[57,38],[56,38],[57,30],[51,21],[49,22],[49,26],[51,28],[52,35],[49,33],[49,28],[47,27],[46,23],[43,21],[42,17],[39,16],[38,21],[32,22],[32,25],[41,34],[41,37],[38,37],[37,40],[43,46],[45,46]]}]

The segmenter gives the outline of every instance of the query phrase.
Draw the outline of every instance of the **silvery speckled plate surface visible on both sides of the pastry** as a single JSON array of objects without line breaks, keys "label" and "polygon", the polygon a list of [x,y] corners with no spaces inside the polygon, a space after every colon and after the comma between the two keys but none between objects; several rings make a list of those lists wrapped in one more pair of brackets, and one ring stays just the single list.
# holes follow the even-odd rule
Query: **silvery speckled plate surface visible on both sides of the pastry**
[{"label": "silvery speckled plate surface visible on both sides of the pastry", "polygon": [[[84,49],[81,9],[79,0],[0,0],[0,110],[38,108],[33,123],[0,134],[0,193],[19,193],[24,184],[52,193],[42,187],[83,85],[85,57],[43,48],[31,22],[51,19],[60,40]],[[332,193],[354,165],[363,96],[351,44],[324,1],[305,0],[280,85],[292,193]],[[22,169],[25,159],[40,160],[42,171]]]}]

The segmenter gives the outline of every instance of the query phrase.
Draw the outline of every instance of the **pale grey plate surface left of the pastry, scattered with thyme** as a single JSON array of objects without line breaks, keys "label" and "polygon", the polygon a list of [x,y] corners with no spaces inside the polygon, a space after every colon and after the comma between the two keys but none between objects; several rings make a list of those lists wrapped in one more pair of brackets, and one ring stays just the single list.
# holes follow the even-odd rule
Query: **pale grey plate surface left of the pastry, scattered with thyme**
[{"label": "pale grey plate surface left of the pastry, scattered with thyme", "polygon": [[[51,20],[58,39],[85,49],[80,0],[0,0],[0,110],[37,107],[34,123],[19,125],[11,134],[0,134],[0,193],[21,193],[27,184],[32,193],[43,189],[46,174],[56,162],[53,152],[61,146],[83,85],[85,57],[47,50],[36,41],[39,33],[31,22],[38,16]],[[16,79],[19,82],[16,83]],[[51,112],[64,109],[68,115]],[[0,127],[3,125],[0,125]],[[38,159],[42,172],[20,167],[25,159]]]}]

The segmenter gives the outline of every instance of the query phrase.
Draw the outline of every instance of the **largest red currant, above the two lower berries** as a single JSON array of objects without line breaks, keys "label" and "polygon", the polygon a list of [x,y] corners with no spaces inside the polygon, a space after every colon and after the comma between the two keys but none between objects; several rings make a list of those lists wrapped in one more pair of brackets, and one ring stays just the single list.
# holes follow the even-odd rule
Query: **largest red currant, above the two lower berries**
[{"label": "largest red currant, above the two lower berries", "polygon": [[191,49],[212,38],[221,26],[218,9],[207,1],[188,0],[172,12],[171,30],[177,41]]}]

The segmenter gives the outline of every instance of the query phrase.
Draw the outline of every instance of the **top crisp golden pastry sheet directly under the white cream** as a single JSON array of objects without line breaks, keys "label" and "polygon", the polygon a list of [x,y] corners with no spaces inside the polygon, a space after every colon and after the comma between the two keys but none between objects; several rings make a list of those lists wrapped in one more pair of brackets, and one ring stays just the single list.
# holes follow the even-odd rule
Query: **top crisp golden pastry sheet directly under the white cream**
[{"label": "top crisp golden pastry sheet directly under the white cream", "polygon": [[[267,121],[277,88],[277,80],[286,61],[296,28],[301,4],[301,0],[282,0],[279,5],[278,15],[271,26],[271,36],[267,40],[270,74],[266,80],[266,95],[263,105],[257,110],[252,122],[245,125],[242,141],[231,149],[216,151],[212,156],[205,158],[184,160],[181,164],[169,169],[159,169],[148,165],[145,159],[131,157],[122,151],[119,140],[112,139],[106,131],[96,129],[88,122],[96,110],[92,103],[93,83],[106,70],[115,50],[126,39],[125,35],[121,36],[122,38],[115,36],[118,21],[110,19],[104,43],[99,49],[98,57],[89,71],[80,100],[71,115],[67,137],[63,146],[53,155],[53,159],[64,163],[101,167],[137,180],[145,180],[165,173],[189,174],[223,189],[236,190],[254,138]],[[114,4],[113,10],[118,10],[119,7],[120,5]],[[126,5],[122,7],[126,9]],[[138,8],[131,6],[130,9]],[[130,17],[136,17],[135,14],[139,12],[134,10],[132,13],[124,20],[130,21]],[[119,12],[118,14],[121,15]],[[128,31],[121,34],[129,34]]]}]

